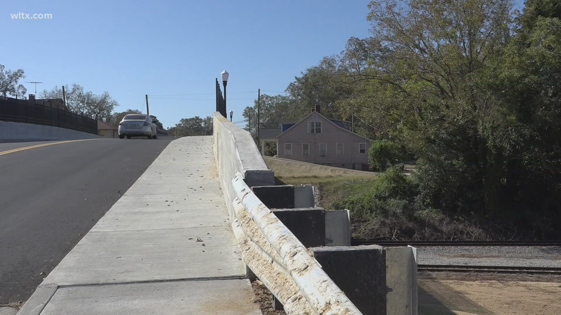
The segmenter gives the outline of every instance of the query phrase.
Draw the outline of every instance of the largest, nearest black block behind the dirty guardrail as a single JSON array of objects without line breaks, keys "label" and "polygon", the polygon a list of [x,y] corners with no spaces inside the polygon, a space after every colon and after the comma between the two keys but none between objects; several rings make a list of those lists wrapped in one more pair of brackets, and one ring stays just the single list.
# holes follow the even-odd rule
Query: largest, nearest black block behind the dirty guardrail
[{"label": "largest, nearest black block behind the dirty guardrail", "polygon": [[386,314],[385,248],[360,245],[315,247],[311,250],[321,268],[362,314]]}]

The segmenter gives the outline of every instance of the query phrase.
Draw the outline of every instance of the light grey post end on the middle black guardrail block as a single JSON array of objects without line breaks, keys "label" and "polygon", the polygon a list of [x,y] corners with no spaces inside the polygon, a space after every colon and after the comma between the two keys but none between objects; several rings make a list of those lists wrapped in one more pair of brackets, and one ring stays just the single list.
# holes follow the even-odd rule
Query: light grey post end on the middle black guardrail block
[{"label": "light grey post end on the middle black guardrail block", "polygon": [[325,211],[325,245],[351,245],[351,221],[348,210]]}]

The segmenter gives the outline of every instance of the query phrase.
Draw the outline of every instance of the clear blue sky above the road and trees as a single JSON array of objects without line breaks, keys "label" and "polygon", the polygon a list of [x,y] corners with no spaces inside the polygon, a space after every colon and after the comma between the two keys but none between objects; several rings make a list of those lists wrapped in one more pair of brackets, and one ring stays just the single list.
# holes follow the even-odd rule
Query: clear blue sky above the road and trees
[{"label": "clear blue sky above the road and trees", "polygon": [[[517,0],[521,2],[521,0]],[[12,1],[2,3],[0,64],[22,68],[37,89],[72,83],[108,91],[120,106],[145,111],[164,127],[215,110],[214,80],[228,80],[228,111],[262,90],[284,91],[295,76],[369,35],[368,0]],[[51,13],[12,20],[10,13]],[[27,93],[34,85],[24,83]],[[273,94],[273,93],[269,93]],[[175,99],[173,99],[175,98]],[[181,99],[180,99],[181,98]]]}]

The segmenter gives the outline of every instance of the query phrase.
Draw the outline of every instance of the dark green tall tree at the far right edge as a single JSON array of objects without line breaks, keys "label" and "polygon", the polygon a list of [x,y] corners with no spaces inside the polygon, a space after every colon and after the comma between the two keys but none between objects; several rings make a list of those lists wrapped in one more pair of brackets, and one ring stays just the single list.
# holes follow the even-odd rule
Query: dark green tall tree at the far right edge
[{"label": "dark green tall tree at the far right edge", "polygon": [[515,31],[489,71],[488,84],[500,101],[485,130],[496,156],[485,178],[486,191],[493,192],[488,203],[535,235],[555,238],[561,220],[559,2],[526,1]]}]

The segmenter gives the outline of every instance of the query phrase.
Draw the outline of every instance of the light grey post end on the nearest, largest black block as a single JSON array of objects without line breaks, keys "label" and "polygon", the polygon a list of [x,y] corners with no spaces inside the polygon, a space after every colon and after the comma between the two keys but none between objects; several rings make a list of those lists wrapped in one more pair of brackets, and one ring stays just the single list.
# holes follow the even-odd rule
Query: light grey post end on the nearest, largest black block
[{"label": "light grey post end on the nearest, largest black block", "polygon": [[386,282],[389,289],[388,314],[417,314],[417,249],[386,248]]}]

